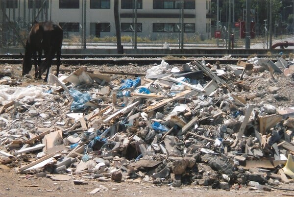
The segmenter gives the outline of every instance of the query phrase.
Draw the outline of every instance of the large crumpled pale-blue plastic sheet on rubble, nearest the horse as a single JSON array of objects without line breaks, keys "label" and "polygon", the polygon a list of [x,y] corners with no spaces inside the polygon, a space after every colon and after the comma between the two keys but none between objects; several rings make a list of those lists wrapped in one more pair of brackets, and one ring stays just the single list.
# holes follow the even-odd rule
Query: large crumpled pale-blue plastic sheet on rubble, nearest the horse
[{"label": "large crumpled pale-blue plastic sheet on rubble, nearest the horse", "polygon": [[91,96],[87,93],[81,93],[77,90],[70,90],[70,94],[73,96],[73,103],[71,110],[80,110],[85,108],[85,103],[91,100]]}]

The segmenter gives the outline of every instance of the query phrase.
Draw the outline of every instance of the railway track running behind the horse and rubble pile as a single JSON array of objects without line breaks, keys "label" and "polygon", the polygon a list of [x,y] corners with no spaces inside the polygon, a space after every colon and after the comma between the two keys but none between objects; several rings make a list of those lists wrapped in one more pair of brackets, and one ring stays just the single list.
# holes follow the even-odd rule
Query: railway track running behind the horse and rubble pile
[{"label": "railway track running behind the horse and rubble pile", "polygon": [[[257,57],[263,57],[262,55],[257,55]],[[103,54],[64,54],[61,57],[62,64],[69,65],[150,65],[150,64],[160,64],[162,59],[164,59],[169,64],[185,64],[195,60],[202,61],[205,63],[215,64],[219,61],[220,64],[236,64],[239,60],[246,61],[248,55],[232,55],[225,58],[223,55],[103,55]],[[276,58],[270,58],[273,62]],[[20,54],[4,54],[0,55],[0,64],[22,64],[22,56]],[[53,59],[53,64],[55,60]]]}]

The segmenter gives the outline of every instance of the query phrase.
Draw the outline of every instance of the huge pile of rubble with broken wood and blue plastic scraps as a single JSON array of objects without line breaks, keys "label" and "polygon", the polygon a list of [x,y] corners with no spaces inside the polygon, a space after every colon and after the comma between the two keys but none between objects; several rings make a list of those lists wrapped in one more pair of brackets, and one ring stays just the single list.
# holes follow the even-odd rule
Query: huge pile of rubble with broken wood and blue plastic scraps
[{"label": "huge pile of rubble with broken wood and blue plastic scraps", "polygon": [[48,85],[0,85],[0,168],[75,184],[271,190],[293,181],[291,57],[162,60],[123,75],[80,67]]}]

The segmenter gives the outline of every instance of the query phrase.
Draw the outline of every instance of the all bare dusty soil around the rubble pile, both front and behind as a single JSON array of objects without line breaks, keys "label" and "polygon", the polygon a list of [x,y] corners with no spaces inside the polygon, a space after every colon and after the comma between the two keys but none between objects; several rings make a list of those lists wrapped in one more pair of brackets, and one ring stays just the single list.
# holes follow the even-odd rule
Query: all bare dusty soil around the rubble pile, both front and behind
[{"label": "all bare dusty soil around the rubble pile, both front and behind", "polygon": [[[61,70],[76,70],[80,66],[66,66],[61,65]],[[144,67],[111,67],[111,66],[96,66],[96,69],[103,70],[113,70],[113,71],[128,71],[128,72],[138,72],[144,73],[149,66]],[[0,65],[0,84],[5,84],[5,79],[1,77],[3,76],[3,72],[6,72],[10,69],[10,74],[7,76],[10,77],[12,82],[7,82],[7,84],[12,86],[23,86],[26,87],[28,85],[46,85],[42,80],[35,80],[21,76],[22,67],[21,65]],[[53,69],[55,67],[53,66]],[[89,67],[89,70],[93,69],[93,67]],[[33,70],[30,74],[33,74]],[[61,73],[64,73],[61,71]],[[2,76],[1,76],[2,74]],[[4,74],[6,75],[6,74]],[[267,84],[274,85],[275,82],[267,79],[265,77],[266,82],[262,79],[257,79],[260,81],[256,81],[256,84],[252,87],[257,92],[267,87]],[[290,100],[284,102],[276,102],[277,105],[282,106],[293,106],[293,84],[288,83],[289,80],[280,80],[275,84],[275,86],[281,87],[280,91],[281,95],[289,97]],[[287,86],[286,86],[287,85]],[[290,88],[289,88],[290,86]],[[283,94],[284,92],[284,94]],[[265,98],[267,101],[272,100],[275,102],[275,99],[267,97]],[[152,183],[134,183],[132,182],[99,182],[97,180],[89,180],[83,179],[83,177],[75,177],[78,180],[83,180],[84,183],[81,185],[75,185],[73,183],[73,179],[69,181],[53,181],[47,177],[36,177],[35,175],[29,174],[17,174],[13,169],[9,170],[0,170],[0,196],[3,197],[63,197],[63,196],[71,196],[71,197],[80,197],[80,196],[91,196],[89,193],[95,188],[102,188],[95,195],[100,196],[142,196],[142,197],[150,197],[150,196],[162,196],[162,197],[170,197],[170,196],[203,196],[203,197],[235,197],[235,196],[253,196],[253,197],[272,197],[272,196],[294,196],[294,183],[290,184],[282,184],[279,185],[279,188],[291,189],[292,191],[278,190],[272,189],[272,191],[250,191],[249,187],[241,187],[241,188],[231,188],[230,191],[225,190],[213,190],[211,187],[201,187],[201,186],[182,186],[180,188],[173,188],[169,185],[154,185]],[[105,188],[101,187],[104,186]]]}]

